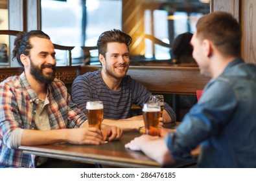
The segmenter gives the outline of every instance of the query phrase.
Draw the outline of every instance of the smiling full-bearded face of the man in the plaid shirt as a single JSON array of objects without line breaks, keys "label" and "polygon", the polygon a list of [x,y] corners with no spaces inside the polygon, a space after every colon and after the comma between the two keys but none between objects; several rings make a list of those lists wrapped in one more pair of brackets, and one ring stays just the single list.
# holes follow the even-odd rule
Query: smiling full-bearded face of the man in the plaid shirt
[{"label": "smiling full-bearded face of the man in the plaid shirt", "polygon": [[28,68],[30,75],[41,83],[50,83],[56,74],[56,59],[54,46],[50,39],[30,38],[30,55]]}]

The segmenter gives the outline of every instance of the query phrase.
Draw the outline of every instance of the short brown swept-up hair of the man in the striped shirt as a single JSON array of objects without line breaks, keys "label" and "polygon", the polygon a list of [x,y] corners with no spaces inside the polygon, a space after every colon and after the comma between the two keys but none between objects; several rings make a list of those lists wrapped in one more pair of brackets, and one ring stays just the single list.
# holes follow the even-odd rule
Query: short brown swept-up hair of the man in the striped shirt
[{"label": "short brown swept-up hair of the man in the striped shirt", "polygon": [[99,54],[102,54],[104,58],[106,56],[108,43],[112,42],[125,43],[129,50],[129,45],[132,43],[132,37],[124,32],[121,32],[121,30],[116,29],[103,32],[99,36],[97,47]]}]

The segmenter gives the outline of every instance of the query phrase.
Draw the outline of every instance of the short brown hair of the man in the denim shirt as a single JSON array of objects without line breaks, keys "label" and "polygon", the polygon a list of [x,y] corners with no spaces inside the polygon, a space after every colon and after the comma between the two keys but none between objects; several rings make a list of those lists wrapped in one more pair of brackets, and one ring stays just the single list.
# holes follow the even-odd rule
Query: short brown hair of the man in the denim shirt
[{"label": "short brown hair of the man in the denim shirt", "polygon": [[198,19],[197,37],[213,41],[218,50],[228,56],[240,56],[240,25],[227,12],[211,12]]}]

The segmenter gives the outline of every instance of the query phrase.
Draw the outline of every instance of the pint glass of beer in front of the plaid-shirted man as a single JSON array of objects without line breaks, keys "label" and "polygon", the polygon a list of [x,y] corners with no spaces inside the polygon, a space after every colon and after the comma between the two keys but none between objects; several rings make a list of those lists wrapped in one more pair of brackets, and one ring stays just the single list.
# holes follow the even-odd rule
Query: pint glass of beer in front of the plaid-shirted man
[{"label": "pint glass of beer in front of the plaid-shirted man", "polygon": [[103,119],[102,101],[87,101],[86,115],[89,127],[97,127],[100,129],[100,125]]}]

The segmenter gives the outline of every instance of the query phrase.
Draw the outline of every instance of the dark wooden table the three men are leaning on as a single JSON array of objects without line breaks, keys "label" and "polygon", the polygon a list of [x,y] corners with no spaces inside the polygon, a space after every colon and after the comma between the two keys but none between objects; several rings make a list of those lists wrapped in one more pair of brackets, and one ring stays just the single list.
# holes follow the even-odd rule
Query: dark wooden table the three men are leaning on
[{"label": "dark wooden table the three men are leaning on", "polygon": [[[148,156],[142,152],[131,151],[124,147],[124,144],[139,135],[138,132],[127,132],[124,133],[122,139],[119,141],[100,145],[52,144],[20,146],[19,149],[22,149],[26,154],[36,154],[38,156],[111,165],[115,167],[161,167],[161,165],[148,158]],[[173,166],[179,167],[190,163],[180,164]]]}]

